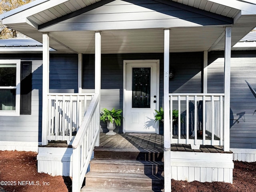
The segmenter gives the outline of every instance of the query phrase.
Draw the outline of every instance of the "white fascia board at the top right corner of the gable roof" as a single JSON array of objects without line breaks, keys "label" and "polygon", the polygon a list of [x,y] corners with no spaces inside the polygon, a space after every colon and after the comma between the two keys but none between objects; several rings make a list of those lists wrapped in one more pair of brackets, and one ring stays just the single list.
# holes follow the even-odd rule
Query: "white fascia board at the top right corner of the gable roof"
[{"label": "white fascia board at the top right corner of the gable roof", "polygon": [[238,0],[208,0],[208,1],[245,11],[244,13],[248,12],[250,14],[256,14],[256,5],[251,4],[249,1],[248,2],[244,2],[244,1],[241,2]]}]

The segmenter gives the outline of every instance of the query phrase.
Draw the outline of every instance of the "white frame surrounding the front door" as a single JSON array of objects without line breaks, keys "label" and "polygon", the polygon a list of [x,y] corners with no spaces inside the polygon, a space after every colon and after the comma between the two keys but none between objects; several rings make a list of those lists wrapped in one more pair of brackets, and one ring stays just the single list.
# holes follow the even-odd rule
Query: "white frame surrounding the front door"
[{"label": "white frame surrounding the front door", "polygon": [[[160,78],[160,60],[124,60],[124,65],[123,65],[123,132],[126,132],[126,63],[131,63],[131,62],[136,62],[136,63],[156,63],[156,89],[158,90],[156,93],[156,98],[158,98],[157,101],[157,110],[159,109],[159,78]],[[156,134],[159,134],[159,124],[156,122],[158,129],[156,131]]]}]

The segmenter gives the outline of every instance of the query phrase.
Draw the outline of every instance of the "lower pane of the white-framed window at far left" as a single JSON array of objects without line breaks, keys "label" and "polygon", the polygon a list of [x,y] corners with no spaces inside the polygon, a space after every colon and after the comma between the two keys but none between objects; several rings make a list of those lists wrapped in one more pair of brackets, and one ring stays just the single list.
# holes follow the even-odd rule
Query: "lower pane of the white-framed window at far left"
[{"label": "lower pane of the white-framed window at far left", "polygon": [[15,110],[16,89],[0,89],[0,110]]}]

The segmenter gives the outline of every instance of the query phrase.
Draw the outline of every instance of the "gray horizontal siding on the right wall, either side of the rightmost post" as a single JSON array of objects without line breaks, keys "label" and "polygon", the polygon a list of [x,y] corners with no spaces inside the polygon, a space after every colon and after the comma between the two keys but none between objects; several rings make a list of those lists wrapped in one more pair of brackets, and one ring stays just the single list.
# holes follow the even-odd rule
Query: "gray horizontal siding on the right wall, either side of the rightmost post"
[{"label": "gray horizontal siding on the right wall, either side of the rightmost post", "polygon": [[[209,53],[208,92],[223,92],[224,53]],[[230,82],[230,147],[256,148],[256,52],[232,52]],[[239,121],[239,123],[236,122]]]}]

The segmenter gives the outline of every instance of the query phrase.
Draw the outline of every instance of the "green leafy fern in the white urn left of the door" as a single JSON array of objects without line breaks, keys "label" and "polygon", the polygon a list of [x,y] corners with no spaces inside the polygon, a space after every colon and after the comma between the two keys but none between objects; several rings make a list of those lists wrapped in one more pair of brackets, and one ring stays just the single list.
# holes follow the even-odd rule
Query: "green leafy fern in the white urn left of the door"
[{"label": "green leafy fern in the white urn left of the door", "polygon": [[112,110],[108,110],[106,108],[103,108],[102,112],[100,113],[100,120],[102,120],[103,122],[106,122],[106,120],[108,120],[111,123],[113,123],[113,119],[114,119],[114,122],[116,123],[116,125],[120,126],[121,120],[122,120],[121,113],[122,113],[122,109],[115,110],[115,108],[113,108]]}]

